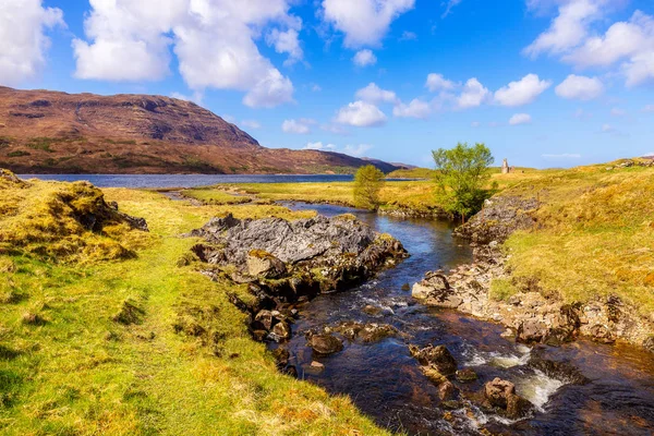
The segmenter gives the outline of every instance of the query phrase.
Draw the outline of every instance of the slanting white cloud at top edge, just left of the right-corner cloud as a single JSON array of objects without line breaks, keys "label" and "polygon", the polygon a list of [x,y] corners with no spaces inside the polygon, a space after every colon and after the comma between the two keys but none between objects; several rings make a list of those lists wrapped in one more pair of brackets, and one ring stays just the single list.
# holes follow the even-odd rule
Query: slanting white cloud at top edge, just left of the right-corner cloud
[{"label": "slanting white cloud at top edge, just left of the right-corner cloud", "polygon": [[[588,36],[590,24],[601,16],[604,0],[569,0],[558,9],[549,28],[529,45],[524,55],[562,53],[578,46]],[[535,2],[532,2],[535,3]]]}]

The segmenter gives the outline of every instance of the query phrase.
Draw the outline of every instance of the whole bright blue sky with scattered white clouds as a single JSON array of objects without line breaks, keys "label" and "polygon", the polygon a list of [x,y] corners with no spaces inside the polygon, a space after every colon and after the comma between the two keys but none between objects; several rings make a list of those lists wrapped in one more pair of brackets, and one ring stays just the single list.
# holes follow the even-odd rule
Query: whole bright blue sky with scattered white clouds
[{"label": "whole bright blue sky with scattered white clouds", "polygon": [[0,85],[190,99],[267,147],[654,154],[652,0],[1,0]]}]

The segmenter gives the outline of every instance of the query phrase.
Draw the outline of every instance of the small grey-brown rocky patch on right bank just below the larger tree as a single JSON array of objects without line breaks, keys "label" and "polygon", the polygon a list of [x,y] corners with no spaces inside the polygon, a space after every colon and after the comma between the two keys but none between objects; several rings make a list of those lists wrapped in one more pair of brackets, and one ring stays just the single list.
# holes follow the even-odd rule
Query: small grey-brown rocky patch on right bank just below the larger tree
[{"label": "small grey-brown rocky patch on right bank just below the larger tree", "polygon": [[504,242],[516,230],[528,230],[536,221],[531,213],[538,208],[535,198],[495,196],[484,202],[484,207],[465,225],[455,230],[455,235],[476,244]]}]

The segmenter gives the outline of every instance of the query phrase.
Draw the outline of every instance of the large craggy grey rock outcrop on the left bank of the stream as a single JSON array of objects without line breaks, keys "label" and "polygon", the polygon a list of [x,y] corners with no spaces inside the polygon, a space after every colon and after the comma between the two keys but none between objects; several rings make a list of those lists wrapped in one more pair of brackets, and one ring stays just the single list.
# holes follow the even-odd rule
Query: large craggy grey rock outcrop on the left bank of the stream
[{"label": "large craggy grey rock outcrop on the left bank of the stream", "polygon": [[[187,235],[204,240],[193,252],[207,264],[207,276],[247,283],[254,302],[232,295],[233,303],[251,314],[256,338],[277,341],[290,337],[298,303],[347,289],[408,256],[399,241],[349,215],[296,221],[228,215]],[[368,325],[356,331],[364,341],[390,334]]]}]

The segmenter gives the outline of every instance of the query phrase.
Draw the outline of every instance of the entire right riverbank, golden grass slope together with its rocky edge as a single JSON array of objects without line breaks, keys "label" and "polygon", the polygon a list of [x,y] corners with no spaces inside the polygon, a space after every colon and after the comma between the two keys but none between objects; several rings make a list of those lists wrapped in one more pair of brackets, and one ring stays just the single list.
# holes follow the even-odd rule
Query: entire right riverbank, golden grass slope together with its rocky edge
[{"label": "entire right riverbank, golden grass slope together with its rocky edge", "polygon": [[429,304],[500,322],[524,342],[578,336],[654,351],[654,170],[625,160],[531,178],[458,229],[475,263],[427,274]]}]

